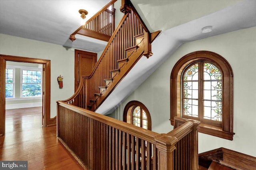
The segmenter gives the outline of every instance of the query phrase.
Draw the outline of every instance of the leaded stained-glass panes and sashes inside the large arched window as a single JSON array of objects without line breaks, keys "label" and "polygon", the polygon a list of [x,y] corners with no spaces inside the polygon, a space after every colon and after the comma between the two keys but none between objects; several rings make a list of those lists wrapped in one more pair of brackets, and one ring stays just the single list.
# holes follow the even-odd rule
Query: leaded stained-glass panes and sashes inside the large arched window
[{"label": "leaded stained-glass panes and sashes inside the large arched window", "polygon": [[207,61],[188,65],[182,78],[182,116],[220,124],[222,121],[222,74]]}]

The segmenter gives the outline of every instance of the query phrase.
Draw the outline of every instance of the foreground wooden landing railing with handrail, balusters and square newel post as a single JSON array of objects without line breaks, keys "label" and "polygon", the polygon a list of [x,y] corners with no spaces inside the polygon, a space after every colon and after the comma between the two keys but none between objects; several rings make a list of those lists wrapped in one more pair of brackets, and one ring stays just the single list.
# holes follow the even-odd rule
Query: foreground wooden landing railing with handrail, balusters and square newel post
[{"label": "foreground wooden landing railing with handrail, balusters and square newel post", "polygon": [[88,170],[197,170],[200,122],[175,120],[179,126],[159,134],[57,102],[58,139]]}]

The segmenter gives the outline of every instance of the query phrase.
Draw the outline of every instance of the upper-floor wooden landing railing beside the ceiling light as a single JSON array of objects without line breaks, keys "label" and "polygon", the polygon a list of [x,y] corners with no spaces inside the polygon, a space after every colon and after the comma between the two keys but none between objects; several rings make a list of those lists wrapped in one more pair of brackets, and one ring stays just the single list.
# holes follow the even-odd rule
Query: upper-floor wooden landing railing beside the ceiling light
[{"label": "upper-floor wooden landing railing beside the ceiling light", "polygon": [[75,35],[80,34],[87,37],[100,39],[102,41],[109,41],[112,33],[115,30],[115,8],[109,10],[110,6],[113,6],[112,0],[106,4],[99,12],[97,12],[92,18],[86,21],[85,25],[81,25],[74,33],[70,35],[70,40],[76,40]]}]

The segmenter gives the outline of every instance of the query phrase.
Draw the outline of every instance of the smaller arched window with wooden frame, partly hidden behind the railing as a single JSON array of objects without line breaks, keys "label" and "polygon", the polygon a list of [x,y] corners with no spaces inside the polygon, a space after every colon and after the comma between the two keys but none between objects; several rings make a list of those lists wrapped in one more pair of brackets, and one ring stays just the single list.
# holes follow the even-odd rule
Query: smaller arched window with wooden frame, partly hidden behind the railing
[{"label": "smaller arched window with wooden frame, partly hidden behind the railing", "polygon": [[144,104],[131,101],[124,107],[124,121],[132,125],[151,130],[151,117]]}]

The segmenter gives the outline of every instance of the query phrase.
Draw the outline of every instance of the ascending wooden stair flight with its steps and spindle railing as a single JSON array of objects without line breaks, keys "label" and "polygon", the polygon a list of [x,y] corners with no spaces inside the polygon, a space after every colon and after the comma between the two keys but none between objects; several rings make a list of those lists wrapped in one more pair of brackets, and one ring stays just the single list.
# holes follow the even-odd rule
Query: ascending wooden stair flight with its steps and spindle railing
[{"label": "ascending wooden stair flight with its steps and spindle railing", "polygon": [[152,55],[151,40],[158,34],[151,36],[130,1],[123,3],[124,16],[92,73],[82,76],[78,90],[63,102],[96,110],[142,55]]}]

